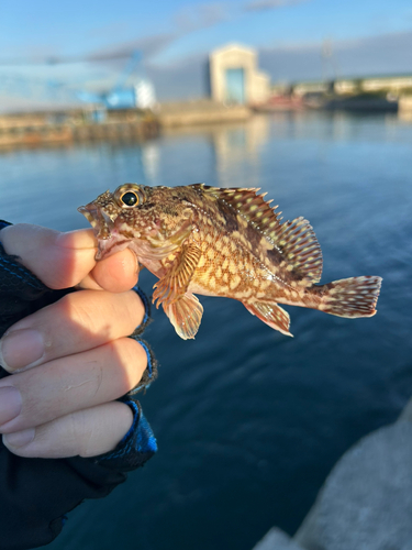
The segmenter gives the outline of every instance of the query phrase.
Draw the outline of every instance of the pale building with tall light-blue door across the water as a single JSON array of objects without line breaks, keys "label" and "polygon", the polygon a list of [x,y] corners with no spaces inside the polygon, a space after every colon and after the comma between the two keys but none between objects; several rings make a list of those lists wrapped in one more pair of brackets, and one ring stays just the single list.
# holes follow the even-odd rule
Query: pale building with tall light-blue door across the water
[{"label": "pale building with tall light-blue door across the water", "polygon": [[225,105],[259,105],[270,97],[270,77],[258,70],[252,47],[227,44],[209,58],[210,91],[214,101]]}]

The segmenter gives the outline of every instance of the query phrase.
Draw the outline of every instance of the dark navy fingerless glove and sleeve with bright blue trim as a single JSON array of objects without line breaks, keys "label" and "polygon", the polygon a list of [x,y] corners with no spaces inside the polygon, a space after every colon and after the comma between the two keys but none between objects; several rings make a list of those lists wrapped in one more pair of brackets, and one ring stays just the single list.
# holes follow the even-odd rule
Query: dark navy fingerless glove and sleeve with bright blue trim
[{"label": "dark navy fingerless glove and sleeve with bright blue trim", "polygon": [[[0,221],[0,230],[8,223]],[[0,234],[1,239],[1,234]],[[0,337],[23,317],[57,301],[75,289],[51,290],[34,274],[5,254],[0,244]],[[141,332],[149,321],[148,300],[140,328],[132,334],[144,346],[148,365],[138,386],[145,389],[157,374],[156,361]],[[0,378],[9,373],[0,366]],[[85,498],[101,498],[142,466],[157,450],[156,439],[134,395],[120,400],[131,407],[133,425],[118,447],[83,459],[25,459],[0,442],[0,548],[23,550],[49,543],[62,530],[65,515]]]}]

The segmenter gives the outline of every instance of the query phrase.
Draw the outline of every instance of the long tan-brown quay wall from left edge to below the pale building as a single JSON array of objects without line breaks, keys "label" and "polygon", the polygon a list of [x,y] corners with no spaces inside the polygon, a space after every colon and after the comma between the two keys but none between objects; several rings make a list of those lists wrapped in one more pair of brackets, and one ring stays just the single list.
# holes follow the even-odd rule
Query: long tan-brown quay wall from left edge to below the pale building
[{"label": "long tan-brown quay wall from left edge to below the pale building", "polygon": [[162,128],[244,121],[245,106],[226,107],[210,100],[140,109],[51,111],[0,116],[0,147],[64,145],[89,141],[145,141]]}]

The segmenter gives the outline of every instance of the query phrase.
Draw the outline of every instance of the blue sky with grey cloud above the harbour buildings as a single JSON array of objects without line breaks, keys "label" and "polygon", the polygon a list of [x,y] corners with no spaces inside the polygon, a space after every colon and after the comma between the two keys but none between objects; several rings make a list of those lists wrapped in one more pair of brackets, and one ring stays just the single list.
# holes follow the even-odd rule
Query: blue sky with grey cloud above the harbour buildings
[{"label": "blue sky with grey cloud above the harbour buildings", "polygon": [[[79,79],[121,70],[140,48],[160,97],[202,92],[208,53],[227,42],[258,48],[272,80],[319,78],[320,51],[330,41],[338,76],[412,73],[411,0],[132,1],[3,0],[0,61],[103,57],[100,64],[57,67]],[[23,70],[15,67],[4,70]],[[41,66],[31,74],[42,75]],[[49,70],[49,68],[47,69]],[[99,73],[100,72],[100,73]]]}]

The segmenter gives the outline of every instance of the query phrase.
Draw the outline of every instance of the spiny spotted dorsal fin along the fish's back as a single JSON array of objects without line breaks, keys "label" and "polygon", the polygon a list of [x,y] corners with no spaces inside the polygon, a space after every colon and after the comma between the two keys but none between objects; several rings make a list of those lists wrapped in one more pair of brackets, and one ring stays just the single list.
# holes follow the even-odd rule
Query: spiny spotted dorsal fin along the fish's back
[{"label": "spiny spotted dorsal fin along the fish's back", "polygon": [[196,184],[207,195],[213,196],[222,205],[230,206],[235,216],[241,216],[249,227],[258,231],[276,248],[287,265],[298,272],[308,283],[319,283],[322,275],[322,252],[312,226],[303,218],[281,223],[281,212],[257,195],[256,188],[208,187]]}]

